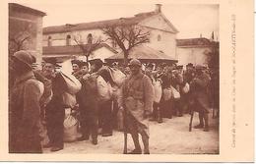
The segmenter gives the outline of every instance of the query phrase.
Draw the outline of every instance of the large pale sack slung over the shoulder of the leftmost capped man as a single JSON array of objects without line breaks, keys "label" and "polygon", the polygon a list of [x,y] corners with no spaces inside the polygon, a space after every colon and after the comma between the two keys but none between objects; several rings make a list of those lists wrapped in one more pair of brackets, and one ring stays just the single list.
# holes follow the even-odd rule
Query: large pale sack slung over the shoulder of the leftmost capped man
[{"label": "large pale sack slung over the shoulder of the leftmost capped man", "polygon": [[63,73],[60,73],[60,75],[62,76],[64,82],[66,82],[67,92],[71,94],[76,94],[77,92],[79,92],[79,90],[82,87],[82,84],[76,79],[76,77],[74,77],[73,75],[67,75]]}]

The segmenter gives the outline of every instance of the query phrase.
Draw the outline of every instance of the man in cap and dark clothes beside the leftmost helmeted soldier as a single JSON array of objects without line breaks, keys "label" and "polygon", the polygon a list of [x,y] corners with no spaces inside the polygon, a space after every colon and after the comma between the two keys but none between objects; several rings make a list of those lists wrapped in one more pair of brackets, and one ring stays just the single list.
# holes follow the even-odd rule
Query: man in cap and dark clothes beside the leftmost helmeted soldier
[{"label": "man in cap and dark clothes beside the leftmost helmeted soldier", "polygon": [[64,117],[65,108],[63,105],[62,95],[65,90],[65,82],[59,73],[56,73],[57,67],[55,58],[45,59],[43,75],[52,83],[52,98],[45,107],[46,128],[49,142],[44,147],[51,147],[51,151],[63,149],[64,135]]}]

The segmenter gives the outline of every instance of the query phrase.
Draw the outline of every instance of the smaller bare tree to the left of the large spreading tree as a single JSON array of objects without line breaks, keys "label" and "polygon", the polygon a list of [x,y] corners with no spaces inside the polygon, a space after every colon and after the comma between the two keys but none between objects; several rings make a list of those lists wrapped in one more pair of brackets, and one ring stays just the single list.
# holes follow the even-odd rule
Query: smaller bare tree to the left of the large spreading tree
[{"label": "smaller bare tree to the left of the large spreading tree", "polygon": [[103,42],[101,38],[98,37],[97,39],[89,39],[88,43],[86,44],[81,38],[81,35],[74,35],[74,40],[82,50],[83,56],[86,56],[87,62],[89,61],[90,55],[96,50],[96,48],[98,48],[98,46],[100,46],[100,43]]}]

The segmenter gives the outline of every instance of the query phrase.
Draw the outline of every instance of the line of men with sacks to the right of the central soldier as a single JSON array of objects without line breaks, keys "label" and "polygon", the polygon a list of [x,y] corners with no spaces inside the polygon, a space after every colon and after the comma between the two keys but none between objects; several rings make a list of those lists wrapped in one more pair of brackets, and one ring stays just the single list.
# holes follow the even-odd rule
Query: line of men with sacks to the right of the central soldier
[{"label": "line of men with sacks to the right of the central soldier", "polygon": [[[172,116],[182,117],[184,113],[191,113],[191,110],[199,112],[200,124],[196,129],[204,128],[209,131],[209,109],[219,109],[219,75],[217,69],[207,69],[204,66],[193,66],[189,63],[186,70],[183,66],[174,64],[160,64],[157,70],[153,70],[154,65],[146,67],[146,75],[152,82],[160,81],[163,95],[160,103],[154,104],[152,121],[157,120],[162,123],[162,118],[171,119]],[[164,90],[172,88],[179,93],[178,97],[172,95],[164,99]],[[188,89],[189,88],[189,89]],[[166,96],[165,96],[166,97]]]}]

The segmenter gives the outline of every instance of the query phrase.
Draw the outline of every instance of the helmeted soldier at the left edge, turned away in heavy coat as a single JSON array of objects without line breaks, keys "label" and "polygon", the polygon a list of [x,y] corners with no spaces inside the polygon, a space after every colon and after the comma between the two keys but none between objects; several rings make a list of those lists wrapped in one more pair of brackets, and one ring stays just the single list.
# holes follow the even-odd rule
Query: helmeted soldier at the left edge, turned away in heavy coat
[{"label": "helmeted soldier at the left edge, turned away in heavy coat", "polygon": [[18,51],[12,56],[10,74],[15,74],[15,83],[10,95],[10,152],[42,152],[39,101],[43,93],[43,84],[38,82],[32,73],[34,62],[35,58],[29,51]]}]

